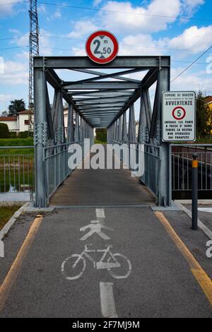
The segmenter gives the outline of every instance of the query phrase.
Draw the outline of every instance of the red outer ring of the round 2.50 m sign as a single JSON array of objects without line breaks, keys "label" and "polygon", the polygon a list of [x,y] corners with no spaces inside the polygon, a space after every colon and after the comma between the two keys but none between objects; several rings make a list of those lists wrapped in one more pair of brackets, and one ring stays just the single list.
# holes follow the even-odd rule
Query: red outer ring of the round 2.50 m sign
[{"label": "red outer ring of the round 2.50 m sign", "polygon": [[[112,43],[114,45],[112,54],[110,54],[110,57],[107,57],[105,59],[99,59],[98,57],[95,57],[95,55],[93,54],[93,52],[91,52],[91,49],[90,49],[91,42],[94,40],[94,38],[101,36],[101,35],[105,35],[105,36],[109,37],[110,40],[112,40]],[[108,64],[108,62],[112,61],[117,56],[118,52],[119,52],[119,43],[117,41],[117,38],[114,35],[112,35],[111,32],[108,32],[105,30],[99,30],[99,31],[93,32],[86,40],[86,53],[92,61],[94,61],[98,64]]]}]

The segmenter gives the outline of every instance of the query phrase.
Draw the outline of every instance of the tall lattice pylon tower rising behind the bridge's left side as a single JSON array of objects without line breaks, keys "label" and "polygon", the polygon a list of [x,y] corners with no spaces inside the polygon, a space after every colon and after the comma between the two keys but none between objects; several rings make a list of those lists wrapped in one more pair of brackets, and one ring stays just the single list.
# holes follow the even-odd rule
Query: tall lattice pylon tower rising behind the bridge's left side
[{"label": "tall lattice pylon tower rising behind the bridge's left side", "polygon": [[30,16],[30,63],[29,63],[29,135],[33,131],[33,111],[34,111],[34,74],[33,57],[39,55],[39,26],[37,16],[37,0],[29,0]]}]

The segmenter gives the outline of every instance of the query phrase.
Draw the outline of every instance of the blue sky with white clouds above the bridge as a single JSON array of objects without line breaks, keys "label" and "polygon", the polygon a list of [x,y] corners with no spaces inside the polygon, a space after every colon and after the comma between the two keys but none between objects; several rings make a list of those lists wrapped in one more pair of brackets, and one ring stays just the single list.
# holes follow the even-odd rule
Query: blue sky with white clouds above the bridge
[{"label": "blue sky with white clouds above the bridge", "polygon": [[[26,2],[0,0],[0,57],[4,59],[0,113],[13,98],[23,98],[28,104]],[[175,78],[212,45],[211,0],[37,2],[40,55],[84,55],[88,35],[104,28],[117,36],[119,55],[170,55]],[[212,95],[210,63],[212,49],[172,83],[172,90],[201,88]],[[69,81],[75,78],[79,76],[69,77]]]}]

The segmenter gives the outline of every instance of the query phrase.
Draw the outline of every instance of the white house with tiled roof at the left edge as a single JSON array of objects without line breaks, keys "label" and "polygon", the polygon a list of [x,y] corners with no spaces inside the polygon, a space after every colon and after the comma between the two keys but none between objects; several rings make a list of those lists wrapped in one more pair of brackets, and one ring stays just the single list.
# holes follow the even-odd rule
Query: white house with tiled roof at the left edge
[{"label": "white house with tiled roof at the left edge", "polygon": [[28,131],[29,124],[29,111],[18,112],[17,117],[0,117],[1,124],[7,124],[9,131],[15,132],[16,134],[22,131]]}]

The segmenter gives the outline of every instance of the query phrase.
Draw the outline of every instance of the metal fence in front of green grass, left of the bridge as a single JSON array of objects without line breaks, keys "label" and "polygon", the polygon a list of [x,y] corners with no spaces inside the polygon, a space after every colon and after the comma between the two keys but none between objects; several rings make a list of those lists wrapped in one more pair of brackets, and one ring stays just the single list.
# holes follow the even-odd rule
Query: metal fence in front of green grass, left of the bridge
[{"label": "metal fence in front of green grass, left of the bridge", "polygon": [[[26,151],[33,146],[0,147],[0,193],[30,193],[35,191],[34,153]],[[18,153],[19,150],[21,153]]]}]

